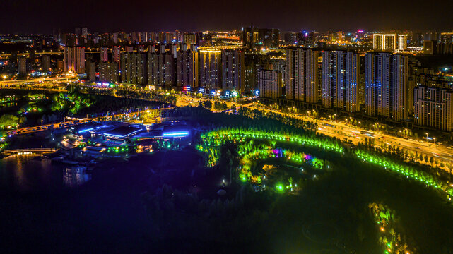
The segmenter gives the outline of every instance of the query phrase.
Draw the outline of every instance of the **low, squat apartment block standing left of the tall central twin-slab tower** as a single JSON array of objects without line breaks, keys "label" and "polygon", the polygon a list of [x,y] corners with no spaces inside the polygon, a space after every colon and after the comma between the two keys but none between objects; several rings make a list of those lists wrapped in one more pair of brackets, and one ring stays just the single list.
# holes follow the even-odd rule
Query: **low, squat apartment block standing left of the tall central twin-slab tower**
[{"label": "low, squat apartment block standing left of the tall central twin-slab tower", "polygon": [[281,71],[261,70],[258,71],[259,97],[278,99],[281,97],[283,77]]}]

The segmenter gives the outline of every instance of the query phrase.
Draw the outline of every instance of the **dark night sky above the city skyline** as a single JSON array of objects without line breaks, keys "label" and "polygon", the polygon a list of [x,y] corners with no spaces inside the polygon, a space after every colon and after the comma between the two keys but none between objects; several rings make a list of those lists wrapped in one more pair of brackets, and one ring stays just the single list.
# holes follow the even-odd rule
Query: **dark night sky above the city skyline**
[{"label": "dark night sky above the city skyline", "polygon": [[234,30],[453,30],[453,1],[1,0],[0,33]]}]

